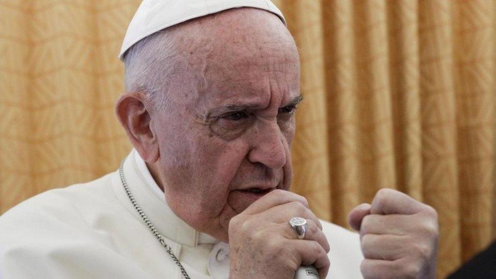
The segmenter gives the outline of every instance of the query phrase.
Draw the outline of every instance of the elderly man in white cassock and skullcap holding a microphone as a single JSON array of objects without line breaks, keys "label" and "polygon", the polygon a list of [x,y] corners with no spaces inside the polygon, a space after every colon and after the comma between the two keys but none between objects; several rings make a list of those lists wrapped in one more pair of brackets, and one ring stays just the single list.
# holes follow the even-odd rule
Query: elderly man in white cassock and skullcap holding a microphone
[{"label": "elderly man in white cassock and skullcap holding a microphone", "polygon": [[431,207],[380,191],[356,234],[288,191],[299,58],[268,0],[144,1],[121,58],[133,151],[5,213],[3,278],[435,276]]}]

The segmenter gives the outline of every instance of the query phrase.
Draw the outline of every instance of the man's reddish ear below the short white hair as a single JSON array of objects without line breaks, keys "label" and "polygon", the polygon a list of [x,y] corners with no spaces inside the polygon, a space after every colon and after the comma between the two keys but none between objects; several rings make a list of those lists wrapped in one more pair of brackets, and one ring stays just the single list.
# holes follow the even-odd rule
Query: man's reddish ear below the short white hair
[{"label": "man's reddish ear below the short white hair", "polygon": [[160,152],[157,135],[150,126],[147,105],[150,104],[143,92],[129,92],[115,103],[115,114],[141,158],[147,163],[154,163],[159,160]]}]

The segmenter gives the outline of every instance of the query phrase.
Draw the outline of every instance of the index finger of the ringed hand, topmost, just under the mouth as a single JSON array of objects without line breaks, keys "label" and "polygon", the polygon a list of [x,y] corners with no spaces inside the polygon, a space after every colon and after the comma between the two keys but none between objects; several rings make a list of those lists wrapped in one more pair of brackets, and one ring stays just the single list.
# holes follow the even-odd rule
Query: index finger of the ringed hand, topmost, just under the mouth
[{"label": "index finger of the ringed hand, topmost, just under the mouth", "polygon": [[308,202],[306,201],[305,197],[289,191],[276,189],[258,199],[256,202],[252,203],[244,210],[244,212],[247,214],[256,214],[274,206],[290,202],[299,202],[304,207],[308,208]]}]

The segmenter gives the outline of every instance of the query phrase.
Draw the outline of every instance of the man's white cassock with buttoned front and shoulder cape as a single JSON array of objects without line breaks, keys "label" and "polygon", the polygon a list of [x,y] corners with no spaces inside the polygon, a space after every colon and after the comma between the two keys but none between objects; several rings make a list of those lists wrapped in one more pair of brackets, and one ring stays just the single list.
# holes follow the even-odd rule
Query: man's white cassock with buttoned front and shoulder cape
[{"label": "man's white cassock with buttoned front and shoulder cape", "polygon": [[[123,170],[136,201],[192,278],[228,278],[229,245],[179,219],[136,150]],[[359,236],[321,221],[328,278],[361,278]],[[289,226],[289,224],[288,224]],[[54,189],[0,216],[0,278],[182,278],[131,204],[118,171]]]}]

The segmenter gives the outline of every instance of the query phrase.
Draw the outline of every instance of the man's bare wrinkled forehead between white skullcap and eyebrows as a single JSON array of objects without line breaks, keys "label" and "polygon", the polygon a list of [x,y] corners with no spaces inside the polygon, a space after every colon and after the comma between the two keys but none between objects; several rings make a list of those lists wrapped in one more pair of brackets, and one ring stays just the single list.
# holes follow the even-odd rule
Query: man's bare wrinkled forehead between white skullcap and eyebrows
[{"label": "man's bare wrinkled forehead between white skullcap and eyebrows", "polygon": [[[245,29],[227,25],[231,29],[215,34],[222,29],[223,19],[238,14],[245,15],[246,23],[262,24]],[[205,27],[199,23],[205,21],[215,24]],[[200,110],[238,104],[264,107],[271,99],[282,105],[299,95],[298,52],[286,27],[273,14],[233,9],[217,14],[215,19],[196,19],[171,30],[177,54],[182,57],[171,80],[176,88],[175,102]]]}]

